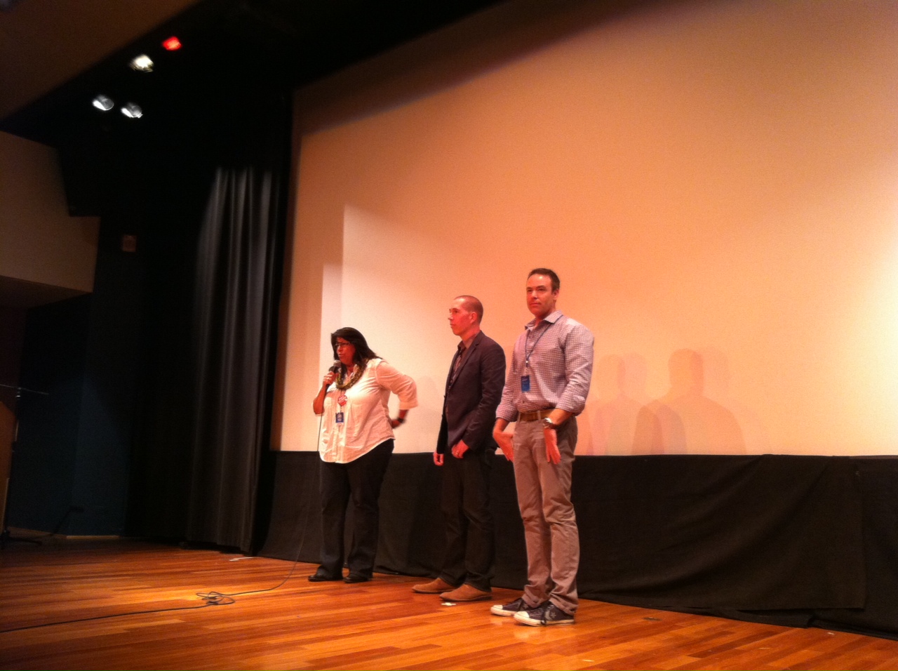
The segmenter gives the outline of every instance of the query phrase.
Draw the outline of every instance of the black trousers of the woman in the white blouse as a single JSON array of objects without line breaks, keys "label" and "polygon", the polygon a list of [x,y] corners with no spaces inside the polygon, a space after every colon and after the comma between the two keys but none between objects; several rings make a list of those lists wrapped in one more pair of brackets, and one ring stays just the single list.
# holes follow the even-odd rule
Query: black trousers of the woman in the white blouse
[{"label": "black trousers of the woman in the white blouse", "polygon": [[321,569],[338,577],[343,572],[343,539],[347,504],[352,506],[352,529],[346,563],[350,573],[371,578],[377,552],[380,516],[378,499],[383,474],[390,463],[393,441],[384,440],[371,452],[348,464],[321,462]]}]

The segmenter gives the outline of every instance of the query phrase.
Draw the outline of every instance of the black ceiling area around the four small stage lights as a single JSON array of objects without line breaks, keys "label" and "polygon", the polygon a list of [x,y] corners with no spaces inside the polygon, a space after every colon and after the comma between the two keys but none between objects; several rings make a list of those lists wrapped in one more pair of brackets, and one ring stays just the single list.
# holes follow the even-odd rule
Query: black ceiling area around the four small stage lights
[{"label": "black ceiling area around the four small stage lights", "polygon": [[[281,87],[289,90],[501,4],[497,0],[203,0],[126,49],[0,121],[0,130],[50,146],[94,124],[127,127],[171,124],[185,113],[215,113],[229,92]],[[166,52],[177,35],[183,48]],[[128,62],[139,53],[154,72],[137,73]],[[97,93],[116,103],[102,113]],[[119,114],[136,102],[145,116]],[[101,121],[100,118],[103,117]]]}]

